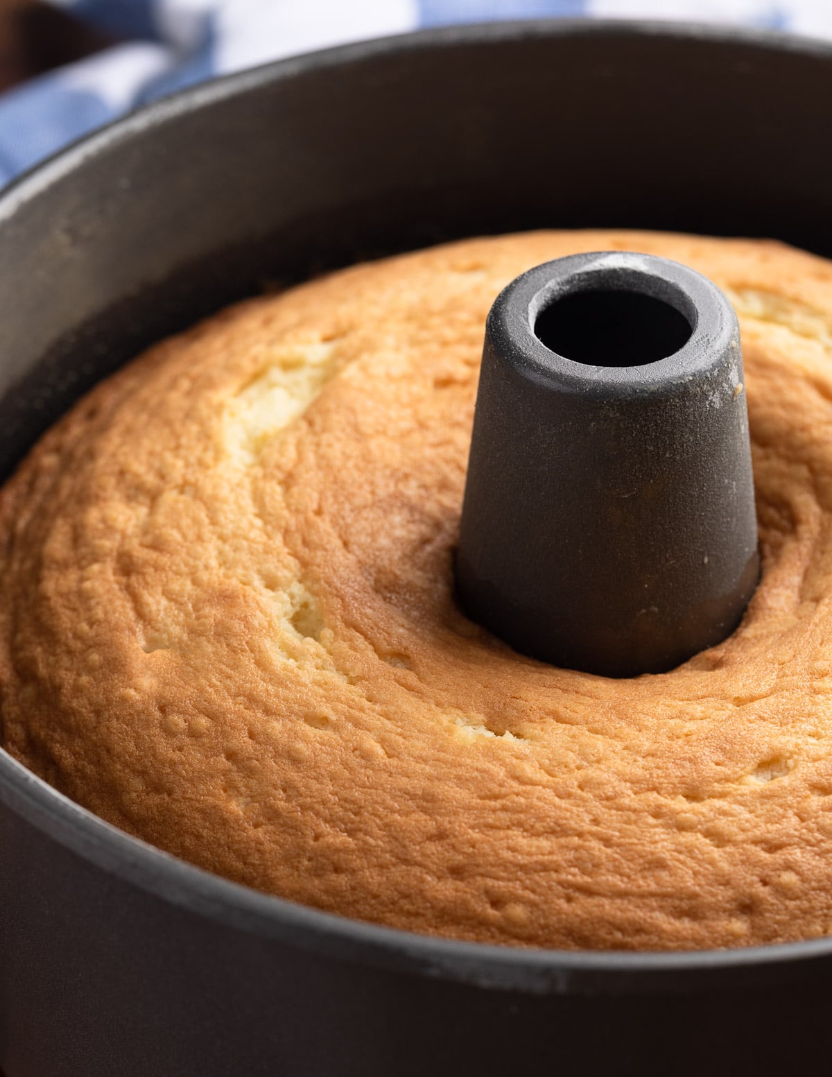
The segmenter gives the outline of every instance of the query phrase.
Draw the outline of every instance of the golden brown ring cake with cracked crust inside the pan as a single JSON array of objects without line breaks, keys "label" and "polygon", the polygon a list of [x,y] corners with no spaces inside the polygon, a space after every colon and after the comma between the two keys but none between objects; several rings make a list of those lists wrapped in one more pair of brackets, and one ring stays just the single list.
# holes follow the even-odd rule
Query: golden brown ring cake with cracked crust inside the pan
[{"label": "golden brown ring cake with cracked crust inside the pan", "polygon": [[[483,322],[666,255],[741,318],[764,556],[727,642],[611,681],[452,597]],[[481,239],[241,304],[102,383],[0,499],[2,738],[99,815],[346,915],[546,947],[832,933],[832,266]]]}]

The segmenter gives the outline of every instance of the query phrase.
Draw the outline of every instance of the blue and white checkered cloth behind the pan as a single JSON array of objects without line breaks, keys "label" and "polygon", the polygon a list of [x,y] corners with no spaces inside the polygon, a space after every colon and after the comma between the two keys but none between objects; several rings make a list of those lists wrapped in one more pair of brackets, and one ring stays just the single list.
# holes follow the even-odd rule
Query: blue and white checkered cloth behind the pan
[{"label": "blue and white checkered cloth behind the pan", "polygon": [[448,23],[641,17],[832,38],[832,0],[53,0],[121,44],[0,96],[0,186],[116,116],[294,53]]}]

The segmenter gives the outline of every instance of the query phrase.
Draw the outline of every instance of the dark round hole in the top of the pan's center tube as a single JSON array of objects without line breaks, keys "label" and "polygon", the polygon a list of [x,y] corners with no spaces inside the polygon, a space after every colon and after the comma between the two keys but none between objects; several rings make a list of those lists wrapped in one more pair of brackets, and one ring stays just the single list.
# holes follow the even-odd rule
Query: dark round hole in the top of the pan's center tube
[{"label": "dark round hole in the top of the pan's center tube", "polygon": [[550,351],[589,366],[646,366],[690,340],[693,327],[669,303],[644,292],[591,290],[560,295],[534,324]]}]

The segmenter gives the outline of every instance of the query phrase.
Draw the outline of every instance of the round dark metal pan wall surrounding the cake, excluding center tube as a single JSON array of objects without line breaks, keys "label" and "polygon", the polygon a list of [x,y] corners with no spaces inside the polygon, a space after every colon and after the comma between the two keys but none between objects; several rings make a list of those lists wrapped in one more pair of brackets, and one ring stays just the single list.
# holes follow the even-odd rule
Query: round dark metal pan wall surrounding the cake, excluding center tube
[{"label": "round dark metal pan wall surrounding the cake, excluding center tube", "polygon": [[[0,473],[151,341],[273,281],[475,233],[632,225],[832,254],[832,48],[651,24],[447,29],[163,101],[0,198]],[[0,752],[8,1077],[791,1071],[832,940],[496,949],[182,864]]]}]

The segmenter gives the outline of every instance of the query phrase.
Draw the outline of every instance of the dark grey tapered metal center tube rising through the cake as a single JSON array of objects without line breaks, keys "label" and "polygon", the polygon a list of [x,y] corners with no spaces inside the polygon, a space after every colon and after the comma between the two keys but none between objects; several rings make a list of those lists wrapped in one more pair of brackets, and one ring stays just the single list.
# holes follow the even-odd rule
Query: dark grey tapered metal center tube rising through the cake
[{"label": "dark grey tapered metal center tube rising through the cake", "polygon": [[512,281],[488,318],[456,586],[522,654],[606,676],[673,669],[759,578],[736,314],[630,252]]}]

